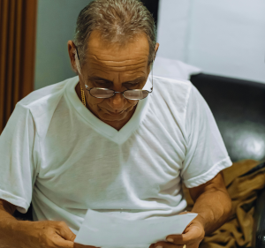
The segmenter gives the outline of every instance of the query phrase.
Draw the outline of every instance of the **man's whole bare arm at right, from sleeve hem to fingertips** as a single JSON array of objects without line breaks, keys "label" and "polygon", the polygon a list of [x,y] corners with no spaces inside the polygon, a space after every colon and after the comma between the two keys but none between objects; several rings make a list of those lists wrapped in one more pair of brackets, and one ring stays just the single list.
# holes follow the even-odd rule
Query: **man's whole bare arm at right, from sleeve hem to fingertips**
[{"label": "man's whole bare arm at right, from sleeve hem to fingertips", "polygon": [[182,235],[169,235],[169,243],[157,242],[150,248],[177,248],[184,244],[186,248],[198,248],[205,234],[218,229],[231,216],[231,198],[225,188],[222,172],[206,184],[189,189],[189,192],[194,201],[192,212],[197,213],[197,217]]}]

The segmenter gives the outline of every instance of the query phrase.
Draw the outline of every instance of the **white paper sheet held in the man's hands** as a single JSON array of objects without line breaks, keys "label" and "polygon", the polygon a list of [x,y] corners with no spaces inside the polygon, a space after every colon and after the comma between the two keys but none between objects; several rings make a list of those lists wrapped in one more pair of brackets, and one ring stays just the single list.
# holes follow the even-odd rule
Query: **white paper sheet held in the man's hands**
[{"label": "white paper sheet held in the man's hands", "polygon": [[182,234],[196,216],[188,213],[128,221],[88,209],[74,242],[96,247],[148,248],[171,234]]}]

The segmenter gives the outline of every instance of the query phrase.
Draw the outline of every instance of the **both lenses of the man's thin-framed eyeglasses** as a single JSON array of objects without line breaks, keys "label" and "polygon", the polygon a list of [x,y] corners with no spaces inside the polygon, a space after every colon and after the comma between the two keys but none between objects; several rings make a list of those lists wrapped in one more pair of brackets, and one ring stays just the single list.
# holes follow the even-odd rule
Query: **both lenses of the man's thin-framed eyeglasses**
[{"label": "both lenses of the man's thin-framed eyeglasses", "polygon": [[[98,89],[92,88],[90,94],[97,98],[110,98],[114,95],[114,92],[110,89]],[[125,98],[129,100],[140,100],[148,96],[147,90],[126,90],[124,93]]]}]

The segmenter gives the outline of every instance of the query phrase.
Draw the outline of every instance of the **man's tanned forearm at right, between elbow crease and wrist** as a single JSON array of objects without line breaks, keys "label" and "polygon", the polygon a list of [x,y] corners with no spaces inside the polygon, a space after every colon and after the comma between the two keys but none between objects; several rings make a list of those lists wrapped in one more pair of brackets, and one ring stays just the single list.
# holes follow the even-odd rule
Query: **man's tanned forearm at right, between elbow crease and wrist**
[{"label": "man's tanned forearm at right, between elbow crease and wrist", "polygon": [[210,234],[231,216],[231,198],[227,192],[211,189],[196,199],[192,212],[198,213],[195,220],[202,223],[206,234]]}]

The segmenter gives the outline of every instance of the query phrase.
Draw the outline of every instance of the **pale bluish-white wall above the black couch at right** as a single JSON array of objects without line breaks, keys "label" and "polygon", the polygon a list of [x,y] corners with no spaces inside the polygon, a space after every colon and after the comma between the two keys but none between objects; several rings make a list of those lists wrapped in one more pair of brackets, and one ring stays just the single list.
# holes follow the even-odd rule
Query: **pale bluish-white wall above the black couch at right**
[{"label": "pale bluish-white wall above the black couch at right", "polygon": [[160,0],[158,56],[265,83],[264,0]]}]

